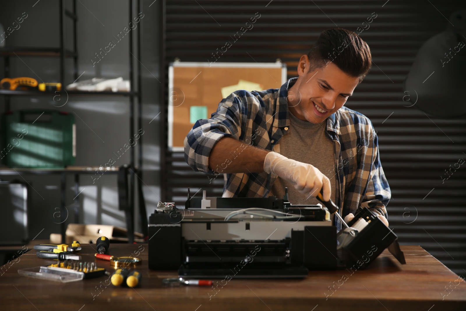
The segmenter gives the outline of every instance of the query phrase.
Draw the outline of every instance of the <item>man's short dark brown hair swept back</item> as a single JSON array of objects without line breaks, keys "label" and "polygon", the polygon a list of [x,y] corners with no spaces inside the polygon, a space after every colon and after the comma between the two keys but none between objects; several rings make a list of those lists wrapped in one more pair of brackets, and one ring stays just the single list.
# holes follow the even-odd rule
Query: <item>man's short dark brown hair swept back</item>
[{"label": "man's short dark brown hair swept back", "polygon": [[356,33],[332,28],[322,31],[308,53],[309,72],[333,62],[349,76],[358,77],[361,83],[369,72],[372,56],[370,48]]}]

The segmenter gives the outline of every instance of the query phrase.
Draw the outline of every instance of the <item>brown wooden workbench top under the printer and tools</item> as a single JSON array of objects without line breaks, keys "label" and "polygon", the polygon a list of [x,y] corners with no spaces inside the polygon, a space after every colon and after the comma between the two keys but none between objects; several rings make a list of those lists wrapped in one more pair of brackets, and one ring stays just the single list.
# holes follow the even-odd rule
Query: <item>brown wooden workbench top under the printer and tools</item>
[{"label": "brown wooden workbench top under the printer and tools", "polygon": [[[33,250],[2,268],[0,310],[466,310],[466,281],[420,246],[401,246],[401,249],[405,265],[385,250],[366,270],[354,274],[348,270],[311,271],[304,280],[233,277],[223,288],[218,286],[215,296],[212,287],[164,285],[163,278],[176,277],[177,273],[149,270],[147,244],[110,245],[111,255],[140,252],[143,264],[138,270],[143,280],[136,289],[105,286],[109,283],[108,276],[72,283],[20,276],[18,269],[53,263],[37,258]],[[93,245],[82,245],[83,260],[94,260],[94,253]],[[97,262],[99,267],[110,270],[109,262]],[[331,296],[329,287],[334,289]]]}]

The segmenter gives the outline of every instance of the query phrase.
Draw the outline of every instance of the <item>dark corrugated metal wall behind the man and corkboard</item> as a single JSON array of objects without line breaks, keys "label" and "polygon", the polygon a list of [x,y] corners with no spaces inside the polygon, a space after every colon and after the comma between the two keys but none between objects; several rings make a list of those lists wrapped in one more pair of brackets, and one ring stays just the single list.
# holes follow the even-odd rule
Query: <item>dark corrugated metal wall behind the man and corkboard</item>
[{"label": "dark corrugated metal wall behind the man and corkboard", "polygon": [[[449,15],[460,8],[466,8],[464,1],[166,0],[165,93],[168,62],[175,57],[212,60],[212,53],[256,12],[260,18],[254,27],[219,61],[274,62],[280,58],[288,65],[288,78],[296,76],[299,57],[307,54],[322,29],[360,31],[357,28],[377,14],[370,28],[365,24],[367,29],[360,34],[371,48],[372,69],[346,105],[370,117],[377,130],[392,190],[390,227],[400,242],[421,245],[457,274],[465,273],[466,166],[443,182],[440,176],[445,177],[445,169],[459,158],[466,159],[466,120],[427,117],[415,106],[409,107],[415,98],[404,97],[403,92],[418,49],[445,30]],[[448,103],[439,104],[448,109]],[[187,187],[192,193],[202,188],[208,195],[222,194],[223,180],[209,184],[205,174],[185,164],[183,153],[163,150],[165,201],[183,205]]]}]

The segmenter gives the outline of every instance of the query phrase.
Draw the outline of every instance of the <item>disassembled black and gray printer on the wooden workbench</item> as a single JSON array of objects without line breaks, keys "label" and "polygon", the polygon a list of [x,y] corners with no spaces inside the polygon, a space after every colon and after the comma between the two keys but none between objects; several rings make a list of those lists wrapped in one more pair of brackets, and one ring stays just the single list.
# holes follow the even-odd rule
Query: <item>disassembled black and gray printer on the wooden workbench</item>
[{"label": "disassembled black and gray printer on the wooden workbench", "polygon": [[[405,263],[397,235],[367,208],[346,224],[331,200],[194,198],[185,209],[158,203],[149,218],[149,269],[180,277],[304,278],[308,270],[364,269],[388,248]],[[330,204],[329,204],[330,203]],[[336,212],[336,213],[335,213]],[[335,213],[348,228],[336,232]]]}]

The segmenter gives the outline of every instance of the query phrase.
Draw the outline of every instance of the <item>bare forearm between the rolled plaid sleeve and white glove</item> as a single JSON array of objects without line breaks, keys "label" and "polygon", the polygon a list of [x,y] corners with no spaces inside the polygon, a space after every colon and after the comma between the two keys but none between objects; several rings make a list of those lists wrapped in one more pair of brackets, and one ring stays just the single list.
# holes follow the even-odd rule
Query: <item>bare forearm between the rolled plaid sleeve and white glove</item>
[{"label": "bare forearm between the rolled plaid sleeve and white glove", "polygon": [[220,139],[212,148],[209,168],[217,173],[261,173],[268,150],[231,137]]}]

